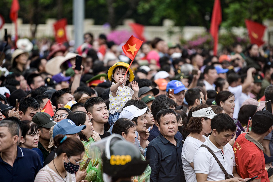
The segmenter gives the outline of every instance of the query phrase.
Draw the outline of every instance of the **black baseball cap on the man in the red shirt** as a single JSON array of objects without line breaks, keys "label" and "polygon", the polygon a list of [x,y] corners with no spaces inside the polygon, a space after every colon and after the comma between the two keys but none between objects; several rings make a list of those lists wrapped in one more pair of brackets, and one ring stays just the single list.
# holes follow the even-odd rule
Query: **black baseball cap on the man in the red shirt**
[{"label": "black baseball cap on the man in the red shirt", "polygon": [[267,110],[257,111],[252,118],[252,127],[268,130],[273,125],[273,115]]}]

